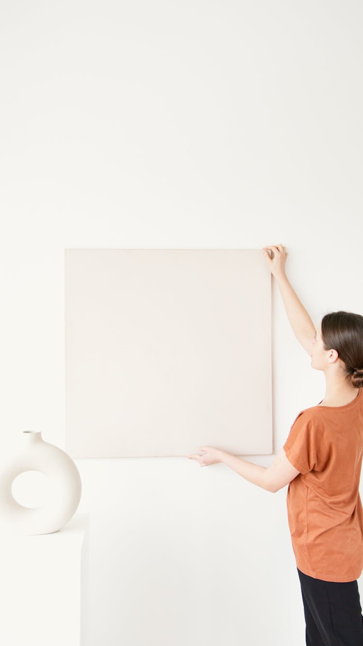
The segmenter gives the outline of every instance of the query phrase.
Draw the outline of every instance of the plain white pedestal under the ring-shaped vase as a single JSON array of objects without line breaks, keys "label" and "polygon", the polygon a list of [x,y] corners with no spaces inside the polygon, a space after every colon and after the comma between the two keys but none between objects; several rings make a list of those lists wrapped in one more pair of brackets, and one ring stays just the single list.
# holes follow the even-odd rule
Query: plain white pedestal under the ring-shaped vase
[{"label": "plain white pedestal under the ring-shaped vase", "polygon": [[88,514],[58,532],[0,538],[0,644],[86,646]]}]

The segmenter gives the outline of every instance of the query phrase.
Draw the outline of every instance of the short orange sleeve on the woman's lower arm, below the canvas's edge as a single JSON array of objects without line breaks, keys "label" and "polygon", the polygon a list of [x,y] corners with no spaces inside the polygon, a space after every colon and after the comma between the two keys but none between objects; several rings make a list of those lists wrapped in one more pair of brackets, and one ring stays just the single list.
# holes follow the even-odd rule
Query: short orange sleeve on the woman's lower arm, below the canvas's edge
[{"label": "short orange sleeve on the woman's lower arm, below the canvas's edge", "polygon": [[301,411],[291,426],[288,438],[282,447],[288,461],[307,474],[317,463],[316,430],[313,419],[306,411]]}]

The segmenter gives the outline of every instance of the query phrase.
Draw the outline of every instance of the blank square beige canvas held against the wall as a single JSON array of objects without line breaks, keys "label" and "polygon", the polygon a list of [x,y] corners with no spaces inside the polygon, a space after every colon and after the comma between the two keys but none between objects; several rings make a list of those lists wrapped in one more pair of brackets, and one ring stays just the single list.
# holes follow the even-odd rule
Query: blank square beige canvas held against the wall
[{"label": "blank square beige canvas held against the wall", "polygon": [[272,453],[260,249],[65,249],[66,452]]}]

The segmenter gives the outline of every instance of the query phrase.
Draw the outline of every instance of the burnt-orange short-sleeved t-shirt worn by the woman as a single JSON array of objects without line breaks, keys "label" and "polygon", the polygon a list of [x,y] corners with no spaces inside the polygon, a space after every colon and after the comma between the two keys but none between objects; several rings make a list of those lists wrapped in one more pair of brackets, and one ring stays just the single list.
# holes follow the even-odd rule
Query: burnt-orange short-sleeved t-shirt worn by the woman
[{"label": "burnt-orange short-sleeved t-shirt worn by the woman", "polygon": [[301,572],[324,581],[354,581],[363,570],[363,395],[345,406],[300,411],[283,448],[300,474],[286,503],[291,544]]}]

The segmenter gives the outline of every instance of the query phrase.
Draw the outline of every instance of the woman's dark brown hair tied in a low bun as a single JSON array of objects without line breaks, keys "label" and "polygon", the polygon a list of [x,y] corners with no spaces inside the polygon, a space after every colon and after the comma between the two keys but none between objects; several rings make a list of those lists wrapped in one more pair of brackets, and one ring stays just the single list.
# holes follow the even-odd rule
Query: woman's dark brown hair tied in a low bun
[{"label": "woman's dark brown hair tied in a low bun", "polygon": [[321,322],[325,350],[337,350],[346,379],[353,388],[363,386],[363,317],[353,312],[329,312]]}]

